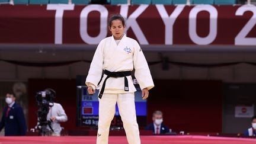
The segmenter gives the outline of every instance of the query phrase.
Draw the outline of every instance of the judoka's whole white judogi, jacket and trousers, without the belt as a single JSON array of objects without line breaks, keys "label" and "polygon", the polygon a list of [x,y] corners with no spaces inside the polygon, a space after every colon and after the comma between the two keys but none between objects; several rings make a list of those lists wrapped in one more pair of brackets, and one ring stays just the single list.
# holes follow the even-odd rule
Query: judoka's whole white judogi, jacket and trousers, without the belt
[{"label": "judoka's whole white judogi, jacket and trousers, without the belt", "polygon": [[[139,82],[140,88],[151,89],[154,87],[151,73],[145,56],[136,40],[124,36],[116,43],[114,37],[107,37],[101,40],[95,51],[94,57],[86,79],[86,85],[97,87],[103,70],[110,72],[133,71]],[[98,88],[101,89],[104,79]],[[115,105],[119,106],[119,112],[126,131],[127,140],[130,144],[139,144],[139,128],[136,121],[135,111],[135,86],[132,76],[128,79],[129,91],[124,91],[124,78],[108,78],[105,84],[103,97],[99,99],[99,122],[97,144],[108,143],[108,133],[111,120],[114,117]]]}]

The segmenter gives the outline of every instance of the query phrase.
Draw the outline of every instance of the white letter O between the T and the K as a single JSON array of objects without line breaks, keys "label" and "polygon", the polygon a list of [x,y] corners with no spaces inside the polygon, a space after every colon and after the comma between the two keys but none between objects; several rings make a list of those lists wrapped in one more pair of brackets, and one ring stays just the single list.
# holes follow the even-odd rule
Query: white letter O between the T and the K
[{"label": "white letter O between the T and the K", "polygon": [[[96,37],[91,37],[88,34],[87,28],[87,18],[91,11],[100,12],[100,33]],[[88,5],[82,9],[80,14],[80,36],[85,43],[88,44],[98,44],[102,39],[107,36],[107,17],[108,10],[103,5]]]}]

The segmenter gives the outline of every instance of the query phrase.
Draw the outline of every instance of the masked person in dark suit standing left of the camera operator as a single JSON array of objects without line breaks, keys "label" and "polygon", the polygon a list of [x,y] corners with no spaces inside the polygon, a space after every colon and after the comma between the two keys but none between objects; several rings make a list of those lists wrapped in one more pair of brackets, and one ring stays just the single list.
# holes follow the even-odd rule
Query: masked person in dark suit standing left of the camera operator
[{"label": "masked person in dark suit standing left of the camera operator", "polygon": [[15,95],[8,93],[5,98],[7,106],[4,108],[0,122],[0,132],[5,127],[5,136],[25,136],[27,126],[23,108],[15,103]]}]

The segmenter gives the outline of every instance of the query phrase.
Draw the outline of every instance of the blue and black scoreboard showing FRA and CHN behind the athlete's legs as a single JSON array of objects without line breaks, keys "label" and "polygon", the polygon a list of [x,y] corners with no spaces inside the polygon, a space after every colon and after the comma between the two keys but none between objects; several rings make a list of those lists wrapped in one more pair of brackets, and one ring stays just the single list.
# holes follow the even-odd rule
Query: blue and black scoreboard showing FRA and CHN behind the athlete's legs
[{"label": "blue and black scoreboard showing FRA and CHN behind the athlete's legs", "polygon": [[[137,84],[136,79],[133,79],[133,83],[137,91],[135,92],[135,107],[136,107],[136,116],[137,122],[140,125],[146,124],[147,116],[147,105],[146,100],[142,100],[142,92]],[[103,95],[104,97],[104,95]],[[87,87],[81,87],[81,126],[98,126],[98,89],[95,94],[89,95]],[[122,126],[121,117],[119,114],[119,108],[116,104],[116,113],[111,126]]]}]

